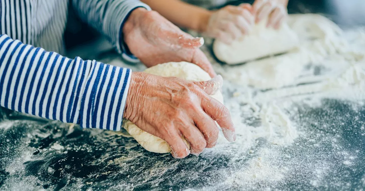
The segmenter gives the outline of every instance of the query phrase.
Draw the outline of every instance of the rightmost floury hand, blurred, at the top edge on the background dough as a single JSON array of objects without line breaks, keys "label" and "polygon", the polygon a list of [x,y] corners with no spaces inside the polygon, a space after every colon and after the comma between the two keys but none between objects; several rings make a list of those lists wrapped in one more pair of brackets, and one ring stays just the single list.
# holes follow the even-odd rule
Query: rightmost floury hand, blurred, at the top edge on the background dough
[{"label": "rightmost floury hand, blurred, at the top edge on the background dough", "polygon": [[255,22],[268,18],[266,27],[278,29],[283,20],[288,16],[287,8],[277,0],[255,0],[252,5]]}]

